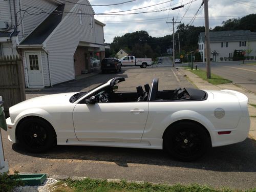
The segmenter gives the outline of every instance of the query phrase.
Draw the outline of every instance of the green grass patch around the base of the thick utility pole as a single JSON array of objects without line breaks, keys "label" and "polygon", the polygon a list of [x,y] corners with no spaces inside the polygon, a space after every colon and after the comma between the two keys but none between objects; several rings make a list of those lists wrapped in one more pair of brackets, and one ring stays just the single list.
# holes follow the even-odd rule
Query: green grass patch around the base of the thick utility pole
[{"label": "green grass patch around the base of the thick utility pole", "polygon": [[232,82],[231,80],[228,79],[224,79],[223,77],[219,76],[219,75],[215,75],[213,73],[211,73],[211,78],[207,79],[206,76],[206,71],[198,69],[198,70],[191,70],[191,68],[186,67],[185,69],[190,70],[190,72],[196,74],[197,76],[199,76],[200,78],[202,78],[203,80],[208,81],[211,84],[225,84],[225,83],[230,83]]}]

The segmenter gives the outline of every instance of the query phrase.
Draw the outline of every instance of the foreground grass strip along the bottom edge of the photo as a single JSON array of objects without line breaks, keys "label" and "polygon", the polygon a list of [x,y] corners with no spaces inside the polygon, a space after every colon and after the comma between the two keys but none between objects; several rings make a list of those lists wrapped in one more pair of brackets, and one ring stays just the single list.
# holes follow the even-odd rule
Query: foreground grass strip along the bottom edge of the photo
[{"label": "foreground grass strip along the bottom edge of the photo", "polygon": [[60,181],[54,186],[53,192],[79,192],[79,191],[102,191],[102,192],[133,192],[133,191],[169,191],[169,192],[255,192],[254,189],[240,190],[230,188],[212,188],[207,185],[165,185],[152,183],[131,183],[121,180],[120,182],[108,182],[106,180],[96,180],[86,178],[84,180],[66,180]]}]

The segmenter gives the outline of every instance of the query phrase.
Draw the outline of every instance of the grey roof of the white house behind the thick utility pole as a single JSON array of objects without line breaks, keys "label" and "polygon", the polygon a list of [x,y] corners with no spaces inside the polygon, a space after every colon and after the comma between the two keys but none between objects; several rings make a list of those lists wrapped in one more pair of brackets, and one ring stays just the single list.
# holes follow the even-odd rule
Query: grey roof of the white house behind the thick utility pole
[{"label": "grey roof of the white house behind the thick utility pole", "polygon": [[[198,43],[200,39],[205,42],[205,33],[201,32],[199,35]],[[235,30],[235,31],[211,31],[210,42],[223,42],[223,41],[248,41],[256,40],[256,32],[250,30]]]}]

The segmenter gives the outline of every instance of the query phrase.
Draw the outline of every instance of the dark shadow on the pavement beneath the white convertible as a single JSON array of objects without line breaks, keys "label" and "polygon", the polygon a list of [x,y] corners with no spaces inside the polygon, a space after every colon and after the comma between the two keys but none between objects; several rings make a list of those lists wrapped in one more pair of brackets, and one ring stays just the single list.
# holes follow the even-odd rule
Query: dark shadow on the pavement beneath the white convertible
[{"label": "dark shadow on the pavement beneath the white convertible", "polygon": [[219,172],[256,172],[256,141],[250,138],[241,143],[211,148],[205,156],[193,162],[174,160],[163,150],[138,148],[58,145],[40,154],[27,153],[17,144],[13,144],[12,148],[19,154],[36,158],[115,162],[123,167],[128,167],[128,163],[137,163]]}]

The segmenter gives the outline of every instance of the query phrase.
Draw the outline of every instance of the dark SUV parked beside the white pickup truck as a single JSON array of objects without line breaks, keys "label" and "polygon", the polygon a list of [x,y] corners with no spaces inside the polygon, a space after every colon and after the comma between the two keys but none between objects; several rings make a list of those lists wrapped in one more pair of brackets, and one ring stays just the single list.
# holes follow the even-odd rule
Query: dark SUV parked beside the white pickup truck
[{"label": "dark SUV parked beside the white pickup truck", "polygon": [[105,73],[106,71],[121,71],[121,62],[119,62],[118,58],[104,58],[101,61],[101,71]]}]

